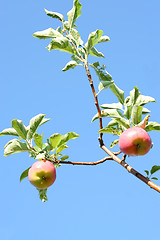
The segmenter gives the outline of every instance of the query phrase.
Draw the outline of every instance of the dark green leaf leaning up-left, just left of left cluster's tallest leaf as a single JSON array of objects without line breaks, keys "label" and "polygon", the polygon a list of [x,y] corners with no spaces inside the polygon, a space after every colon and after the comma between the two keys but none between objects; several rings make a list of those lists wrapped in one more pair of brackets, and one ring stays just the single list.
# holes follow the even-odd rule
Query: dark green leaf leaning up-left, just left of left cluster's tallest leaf
[{"label": "dark green leaf leaning up-left, just left of left cluster's tallest leaf", "polygon": [[18,135],[24,140],[27,139],[27,128],[21,120],[12,120],[12,127],[17,131]]}]

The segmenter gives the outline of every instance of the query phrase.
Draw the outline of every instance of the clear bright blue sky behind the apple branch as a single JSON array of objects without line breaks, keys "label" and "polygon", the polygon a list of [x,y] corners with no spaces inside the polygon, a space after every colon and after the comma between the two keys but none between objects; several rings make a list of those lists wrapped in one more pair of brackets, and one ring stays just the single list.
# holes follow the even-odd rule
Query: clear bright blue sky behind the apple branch
[{"label": "clear bright blue sky behind the apple branch", "polygon": [[[0,14],[0,131],[12,119],[28,125],[30,118],[45,113],[51,121],[40,127],[48,138],[53,133],[75,131],[64,153],[72,161],[97,161],[105,157],[98,144],[94,99],[82,67],[62,72],[70,60],[67,53],[45,49],[49,41],[33,38],[34,32],[59,22],[44,8],[65,16],[72,0],[1,0]],[[84,42],[89,33],[102,29],[111,38],[97,48],[115,83],[125,91],[134,86],[154,97],[148,104],[151,121],[160,122],[160,2],[158,0],[81,0],[82,15],[76,24]],[[95,86],[98,79],[91,71]],[[100,104],[117,102],[110,90],[100,95]],[[104,126],[107,120],[104,119]],[[160,133],[151,132],[154,148],[144,157],[128,158],[140,171],[160,165]],[[42,203],[37,190],[19,177],[34,159],[27,153],[3,157],[3,147],[12,137],[0,137],[0,236],[3,240],[132,240],[158,239],[160,195],[115,162],[97,166],[67,166],[57,169],[57,179]],[[109,146],[112,135],[104,136]],[[115,151],[118,148],[115,148]],[[155,174],[160,178],[160,173]],[[158,182],[160,184],[160,181]]]}]

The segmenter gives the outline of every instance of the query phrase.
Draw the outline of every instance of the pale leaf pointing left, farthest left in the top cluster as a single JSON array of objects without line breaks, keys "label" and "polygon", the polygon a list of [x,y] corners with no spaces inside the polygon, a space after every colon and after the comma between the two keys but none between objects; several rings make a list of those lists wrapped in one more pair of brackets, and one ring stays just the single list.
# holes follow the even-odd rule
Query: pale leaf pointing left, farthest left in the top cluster
[{"label": "pale leaf pointing left, farthest left in the top cluster", "polygon": [[63,37],[63,35],[57,30],[54,30],[53,28],[48,28],[43,31],[35,32],[33,34],[33,37],[37,37],[39,39],[48,39],[48,38]]}]

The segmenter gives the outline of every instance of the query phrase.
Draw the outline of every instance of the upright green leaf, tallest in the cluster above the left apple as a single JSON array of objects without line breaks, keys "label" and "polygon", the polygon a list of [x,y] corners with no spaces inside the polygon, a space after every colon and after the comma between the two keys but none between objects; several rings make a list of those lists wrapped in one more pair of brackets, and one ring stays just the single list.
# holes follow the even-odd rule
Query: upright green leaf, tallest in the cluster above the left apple
[{"label": "upright green leaf, tallest in the cluster above the left apple", "polygon": [[28,134],[27,134],[27,137],[29,139],[32,139],[34,137],[34,134],[36,133],[37,128],[41,124],[43,124],[42,121],[45,116],[46,116],[45,114],[38,114],[30,120],[29,130],[28,130]]}]

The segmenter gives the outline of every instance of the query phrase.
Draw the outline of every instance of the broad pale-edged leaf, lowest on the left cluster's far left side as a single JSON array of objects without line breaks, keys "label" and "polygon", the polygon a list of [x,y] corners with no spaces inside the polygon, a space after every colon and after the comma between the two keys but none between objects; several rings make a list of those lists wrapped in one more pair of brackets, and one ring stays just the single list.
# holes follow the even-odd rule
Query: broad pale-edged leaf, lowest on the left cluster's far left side
[{"label": "broad pale-edged leaf, lowest on the left cluster's far left side", "polygon": [[29,151],[26,143],[20,142],[18,139],[13,139],[4,147],[4,156],[26,151]]}]

